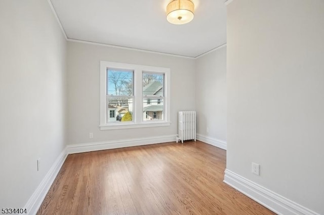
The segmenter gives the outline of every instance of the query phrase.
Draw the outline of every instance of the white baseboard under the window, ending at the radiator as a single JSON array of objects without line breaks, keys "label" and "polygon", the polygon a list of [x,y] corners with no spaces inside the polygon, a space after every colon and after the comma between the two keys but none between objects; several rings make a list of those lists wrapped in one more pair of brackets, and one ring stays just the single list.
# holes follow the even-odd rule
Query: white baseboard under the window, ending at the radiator
[{"label": "white baseboard under the window, ending at the radiator", "polygon": [[111,140],[104,142],[80,143],[67,145],[67,153],[81,153],[88,151],[98,151],[113,148],[124,148],[130,146],[149,145],[155,143],[165,143],[176,141],[176,135],[164,135],[155,137],[132,138],[122,140]]}]

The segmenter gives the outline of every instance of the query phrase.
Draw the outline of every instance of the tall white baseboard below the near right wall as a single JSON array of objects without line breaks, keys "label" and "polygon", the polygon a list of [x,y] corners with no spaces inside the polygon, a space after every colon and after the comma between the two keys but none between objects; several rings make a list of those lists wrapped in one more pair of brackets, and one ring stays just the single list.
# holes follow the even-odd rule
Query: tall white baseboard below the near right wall
[{"label": "tall white baseboard below the near right wall", "polygon": [[319,213],[316,213],[227,169],[225,170],[224,182],[277,214],[319,215]]}]

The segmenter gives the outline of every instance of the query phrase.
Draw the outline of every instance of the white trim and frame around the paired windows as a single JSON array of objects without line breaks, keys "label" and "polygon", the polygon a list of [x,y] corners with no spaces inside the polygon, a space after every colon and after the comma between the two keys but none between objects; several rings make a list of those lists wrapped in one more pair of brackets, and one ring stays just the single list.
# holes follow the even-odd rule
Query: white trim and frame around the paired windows
[{"label": "white trim and frame around the paired windows", "polygon": [[[116,122],[106,124],[107,68],[134,70],[133,113],[135,113],[135,117],[133,118],[133,122]],[[154,122],[143,120],[142,73],[147,72],[165,74],[164,120]],[[170,68],[100,61],[100,130],[170,126],[170,78]]]}]

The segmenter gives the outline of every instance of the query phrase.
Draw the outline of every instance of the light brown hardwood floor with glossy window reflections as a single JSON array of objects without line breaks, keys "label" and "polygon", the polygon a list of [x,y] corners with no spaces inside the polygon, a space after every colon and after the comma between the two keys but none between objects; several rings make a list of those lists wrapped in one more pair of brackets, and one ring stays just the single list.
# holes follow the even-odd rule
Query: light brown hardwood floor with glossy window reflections
[{"label": "light brown hardwood floor with glossy window reflections", "polygon": [[70,154],[37,214],[274,214],[223,183],[200,141]]}]

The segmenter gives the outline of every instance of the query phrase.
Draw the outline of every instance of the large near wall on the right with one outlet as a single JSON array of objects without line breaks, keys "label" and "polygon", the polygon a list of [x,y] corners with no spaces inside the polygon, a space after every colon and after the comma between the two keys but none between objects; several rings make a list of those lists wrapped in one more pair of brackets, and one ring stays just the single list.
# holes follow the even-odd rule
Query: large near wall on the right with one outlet
[{"label": "large near wall on the right with one outlet", "polygon": [[321,0],[227,7],[227,169],[320,214],[323,38]]}]

